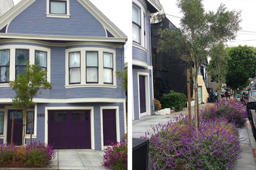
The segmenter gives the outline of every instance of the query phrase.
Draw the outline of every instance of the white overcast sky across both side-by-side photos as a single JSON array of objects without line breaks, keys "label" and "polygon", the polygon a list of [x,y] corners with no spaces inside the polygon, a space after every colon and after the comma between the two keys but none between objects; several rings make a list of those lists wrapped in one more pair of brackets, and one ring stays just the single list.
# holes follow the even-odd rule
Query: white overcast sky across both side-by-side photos
[{"label": "white overcast sky across both side-by-side photos", "polygon": [[[14,4],[20,0],[14,0]],[[126,35],[131,35],[131,5],[130,1],[120,0],[90,0],[100,9],[114,24]],[[173,24],[179,27],[182,14],[178,9],[176,0],[160,0],[167,17]],[[228,46],[238,46],[239,44],[256,47],[256,1],[255,0],[204,0],[205,10],[216,11],[221,3],[225,4],[228,10],[241,10],[242,30],[238,31],[236,40],[228,42]]]}]

